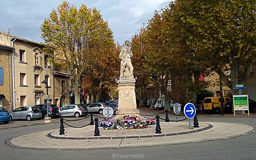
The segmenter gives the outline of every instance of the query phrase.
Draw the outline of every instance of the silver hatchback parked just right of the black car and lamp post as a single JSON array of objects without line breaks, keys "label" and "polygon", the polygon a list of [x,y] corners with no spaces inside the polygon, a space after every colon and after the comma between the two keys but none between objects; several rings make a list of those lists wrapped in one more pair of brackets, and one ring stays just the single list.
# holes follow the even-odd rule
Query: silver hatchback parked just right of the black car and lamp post
[{"label": "silver hatchback parked just right of the black car and lamp post", "polygon": [[59,109],[60,116],[80,117],[87,114],[87,111],[80,104],[70,104]]}]

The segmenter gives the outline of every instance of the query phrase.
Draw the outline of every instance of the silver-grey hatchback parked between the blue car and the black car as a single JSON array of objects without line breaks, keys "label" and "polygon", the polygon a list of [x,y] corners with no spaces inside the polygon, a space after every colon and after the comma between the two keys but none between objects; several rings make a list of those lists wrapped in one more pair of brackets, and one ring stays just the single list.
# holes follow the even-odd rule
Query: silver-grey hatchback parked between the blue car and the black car
[{"label": "silver-grey hatchback parked between the blue car and the black car", "polygon": [[13,111],[9,112],[10,120],[26,119],[28,121],[32,119],[40,120],[42,114],[38,106],[21,106]]}]

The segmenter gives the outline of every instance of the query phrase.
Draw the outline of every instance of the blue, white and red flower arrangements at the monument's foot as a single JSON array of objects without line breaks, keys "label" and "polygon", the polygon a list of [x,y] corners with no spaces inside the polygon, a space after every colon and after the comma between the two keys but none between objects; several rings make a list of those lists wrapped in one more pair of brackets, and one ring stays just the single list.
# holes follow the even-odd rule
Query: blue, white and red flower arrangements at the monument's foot
[{"label": "blue, white and red flower arrangements at the monument's foot", "polygon": [[141,119],[136,115],[124,116],[122,120],[102,120],[99,126],[103,129],[147,129],[156,124],[152,119]]}]

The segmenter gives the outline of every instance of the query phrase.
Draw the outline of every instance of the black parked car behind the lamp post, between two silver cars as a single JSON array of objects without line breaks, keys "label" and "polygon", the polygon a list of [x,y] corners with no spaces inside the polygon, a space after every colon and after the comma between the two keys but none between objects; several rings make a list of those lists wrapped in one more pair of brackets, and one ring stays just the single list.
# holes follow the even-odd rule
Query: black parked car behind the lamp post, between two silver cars
[{"label": "black parked car behind the lamp post, between two silver cars", "polygon": [[[35,106],[39,107],[42,117],[47,117],[47,104],[38,104]],[[56,106],[55,104],[48,104],[48,113],[49,113],[49,117],[52,117],[52,118],[59,117],[58,106]]]}]

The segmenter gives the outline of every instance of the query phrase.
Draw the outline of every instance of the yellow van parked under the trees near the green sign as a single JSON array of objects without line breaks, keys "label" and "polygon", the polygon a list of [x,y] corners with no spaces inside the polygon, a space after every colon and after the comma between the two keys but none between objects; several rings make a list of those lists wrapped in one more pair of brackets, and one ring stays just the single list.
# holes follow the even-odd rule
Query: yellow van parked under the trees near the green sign
[{"label": "yellow van parked under the trees near the green sign", "polygon": [[[223,97],[223,107],[227,101],[231,100],[229,97]],[[213,111],[216,114],[219,114],[221,111],[221,97],[206,97],[204,98],[204,111],[210,112]]]}]

